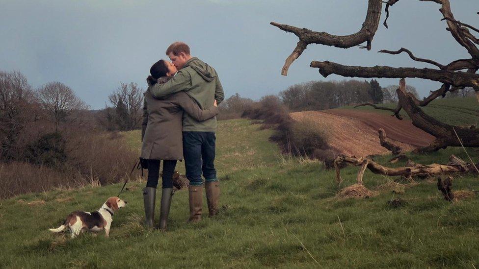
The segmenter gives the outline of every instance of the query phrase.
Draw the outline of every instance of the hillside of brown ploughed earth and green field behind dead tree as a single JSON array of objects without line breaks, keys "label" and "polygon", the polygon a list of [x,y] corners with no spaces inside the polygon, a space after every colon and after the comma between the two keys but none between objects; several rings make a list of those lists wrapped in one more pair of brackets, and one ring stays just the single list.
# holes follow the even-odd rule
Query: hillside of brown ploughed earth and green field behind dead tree
[{"label": "hillside of brown ploughed earth and green field behind dead tree", "polygon": [[[381,104],[390,108],[396,105]],[[431,102],[424,110],[430,116],[449,124],[479,124],[479,105],[475,98],[439,99]],[[291,113],[294,120],[319,123],[328,134],[328,144],[346,155],[388,154],[389,151],[379,144],[378,128],[383,128],[388,138],[405,150],[425,147],[433,141],[434,137],[415,127],[403,111],[403,120],[391,115],[391,112],[370,106]]]}]

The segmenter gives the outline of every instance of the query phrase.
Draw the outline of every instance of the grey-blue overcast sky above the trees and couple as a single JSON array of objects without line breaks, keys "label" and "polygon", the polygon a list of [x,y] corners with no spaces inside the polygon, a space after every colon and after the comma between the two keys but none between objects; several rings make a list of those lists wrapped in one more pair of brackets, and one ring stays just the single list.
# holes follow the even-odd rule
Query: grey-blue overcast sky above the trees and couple
[{"label": "grey-blue overcast sky above the trees and couple", "polygon": [[[297,37],[269,23],[306,27],[331,34],[357,32],[366,16],[367,0],[0,0],[0,70],[17,70],[40,87],[60,81],[92,109],[104,108],[120,82],[146,90],[145,78],[166,48],[186,42],[192,56],[213,66],[225,96],[259,99],[289,86],[327,78],[310,68],[313,60],[345,65],[430,67],[407,54],[377,53],[410,49],[415,56],[447,64],[470,58],[440,21],[440,5],[402,0],[390,8],[389,29],[382,22],[373,49],[340,49],[309,45],[281,75]],[[456,20],[479,26],[478,0],[451,1]],[[350,78],[346,78],[350,79]],[[398,79],[378,79],[381,86]],[[420,96],[437,82],[408,79]]]}]

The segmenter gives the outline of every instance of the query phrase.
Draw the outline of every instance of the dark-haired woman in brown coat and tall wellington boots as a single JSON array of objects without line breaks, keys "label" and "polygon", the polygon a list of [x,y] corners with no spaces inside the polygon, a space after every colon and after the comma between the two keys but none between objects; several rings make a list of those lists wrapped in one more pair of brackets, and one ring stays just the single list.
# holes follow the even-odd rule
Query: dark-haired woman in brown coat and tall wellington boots
[{"label": "dark-haired woman in brown coat and tall wellington boots", "polygon": [[[171,62],[160,60],[150,69],[148,85],[164,83],[176,72]],[[148,89],[144,96],[141,158],[148,163],[148,181],[143,189],[145,224],[153,227],[160,160],[163,160],[160,229],[166,230],[173,195],[172,176],[177,160],[183,159],[183,113],[188,113],[197,121],[205,121],[216,116],[218,108],[215,101],[212,107],[202,110],[186,92],[178,92],[160,100],[154,98]]]}]

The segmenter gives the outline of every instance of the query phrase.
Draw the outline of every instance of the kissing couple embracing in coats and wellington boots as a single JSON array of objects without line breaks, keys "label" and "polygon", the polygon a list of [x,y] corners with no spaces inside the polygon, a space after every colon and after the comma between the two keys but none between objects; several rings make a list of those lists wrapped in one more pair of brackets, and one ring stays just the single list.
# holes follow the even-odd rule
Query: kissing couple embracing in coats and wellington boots
[{"label": "kissing couple embracing in coats and wellington boots", "polygon": [[218,74],[190,55],[188,45],[175,42],[166,49],[170,61],[153,64],[144,93],[141,158],[148,165],[143,189],[145,225],[153,227],[160,161],[163,161],[160,203],[161,230],[166,230],[173,196],[173,173],[185,160],[189,181],[190,222],[201,220],[204,189],[209,215],[218,213],[219,182],[214,168],[217,105],[224,92]]}]

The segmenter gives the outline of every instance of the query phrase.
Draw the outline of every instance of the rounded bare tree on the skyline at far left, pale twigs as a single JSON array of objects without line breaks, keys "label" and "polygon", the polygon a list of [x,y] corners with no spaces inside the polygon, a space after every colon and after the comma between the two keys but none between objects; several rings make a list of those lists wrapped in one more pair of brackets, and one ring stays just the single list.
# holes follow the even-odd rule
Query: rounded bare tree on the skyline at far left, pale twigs
[{"label": "rounded bare tree on the skyline at far left, pale twigs", "polygon": [[[88,109],[88,105],[75,92],[61,82],[49,82],[37,90],[38,101],[50,114],[55,128],[69,119],[74,112]],[[71,119],[74,120],[74,119]]]}]

